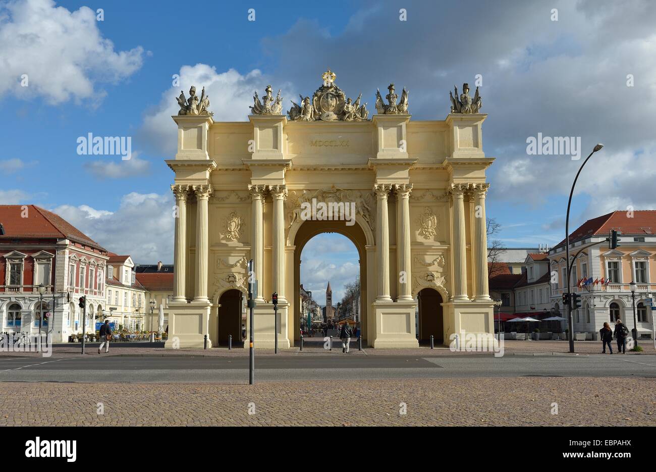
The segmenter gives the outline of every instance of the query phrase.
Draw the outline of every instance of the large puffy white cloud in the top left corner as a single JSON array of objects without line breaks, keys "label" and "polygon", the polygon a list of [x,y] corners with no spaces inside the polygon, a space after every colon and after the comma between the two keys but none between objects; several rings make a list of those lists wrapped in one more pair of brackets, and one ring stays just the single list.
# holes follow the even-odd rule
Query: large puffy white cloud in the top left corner
[{"label": "large puffy white cloud in the top left corner", "polygon": [[[97,104],[96,83],[116,83],[142,65],[144,51],[114,51],[102,37],[96,12],[71,12],[52,0],[18,0],[0,5],[0,97],[42,96],[51,104],[71,98]],[[28,87],[21,77],[28,75]]]}]

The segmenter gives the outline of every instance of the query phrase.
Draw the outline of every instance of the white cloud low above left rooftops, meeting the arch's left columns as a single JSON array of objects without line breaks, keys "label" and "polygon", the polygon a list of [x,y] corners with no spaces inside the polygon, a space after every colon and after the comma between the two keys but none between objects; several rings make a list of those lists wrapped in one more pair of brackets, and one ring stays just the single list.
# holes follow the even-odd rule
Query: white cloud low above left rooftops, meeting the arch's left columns
[{"label": "white cloud low above left rooftops, meeting the arch's left columns", "polygon": [[127,194],[116,211],[89,205],[61,205],[52,211],[117,254],[132,255],[138,264],[173,263],[173,197]]}]

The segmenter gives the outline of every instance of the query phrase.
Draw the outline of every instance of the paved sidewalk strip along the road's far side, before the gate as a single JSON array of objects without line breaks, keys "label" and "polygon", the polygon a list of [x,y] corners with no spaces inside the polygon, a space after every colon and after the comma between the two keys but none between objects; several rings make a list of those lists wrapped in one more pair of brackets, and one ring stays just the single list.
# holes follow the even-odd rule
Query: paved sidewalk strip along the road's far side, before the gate
[{"label": "paved sidewalk strip along the road's far side, before the gate", "polygon": [[[116,343],[118,344],[118,343]],[[602,352],[602,344],[600,341],[576,341],[575,345],[575,354],[600,354]],[[653,341],[644,340],[640,342],[640,346],[644,349],[642,353],[630,353],[626,352],[626,355],[646,355],[646,354],[656,354],[654,350]],[[613,353],[616,353],[615,341],[613,341]],[[428,347],[421,347],[420,349],[370,349],[365,348],[362,351],[358,351],[356,344],[352,343],[351,345],[351,355],[426,355],[430,352],[432,355],[467,355],[467,354],[480,354],[476,352],[452,352],[448,347],[437,347],[432,351]],[[52,348],[52,353],[57,354],[58,357],[75,357],[81,356],[81,346],[79,344],[70,344],[66,346],[56,346]],[[225,347],[213,348],[213,349],[163,349],[161,347],[130,347],[129,343],[121,343],[121,345],[112,345],[110,347],[110,353],[102,353],[103,356],[134,356],[134,355],[163,355],[163,356],[175,356],[175,355],[186,355],[186,356],[247,356],[249,353],[248,349],[243,349],[241,347],[228,350]],[[256,349],[257,354],[273,354],[273,349]],[[504,343],[504,354],[523,354],[523,355],[546,355],[546,354],[569,354],[569,343],[567,341],[505,341]],[[278,354],[285,355],[341,355],[342,349],[340,343],[335,341],[333,351],[328,351],[321,347],[304,347],[302,353],[299,351],[298,347],[293,347],[291,349],[279,349]],[[89,345],[86,349],[86,355],[97,356],[98,355],[98,344]],[[3,356],[41,356],[39,353],[7,353],[0,351],[0,358]]]}]

